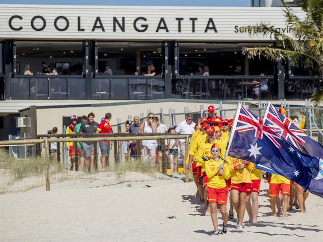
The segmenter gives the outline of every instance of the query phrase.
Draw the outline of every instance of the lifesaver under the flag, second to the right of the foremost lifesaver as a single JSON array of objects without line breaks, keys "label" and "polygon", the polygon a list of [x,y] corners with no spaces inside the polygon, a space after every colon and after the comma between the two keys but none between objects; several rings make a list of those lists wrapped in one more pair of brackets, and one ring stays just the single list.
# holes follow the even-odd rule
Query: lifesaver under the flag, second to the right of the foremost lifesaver
[{"label": "lifesaver under the flag, second to the right of the foremost lifesaver", "polygon": [[[260,182],[261,182],[261,171],[258,169],[253,169],[250,173],[250,179],[252,182],[251,185],[251,196],[246,197],[245,208],[249,216],[249,223],[257,223],[257,216],[259,210],[259,191],[260,191]],[[251,197],[251,198],[250,198]],[[252,201],[252,206],[251,206]]]}]

